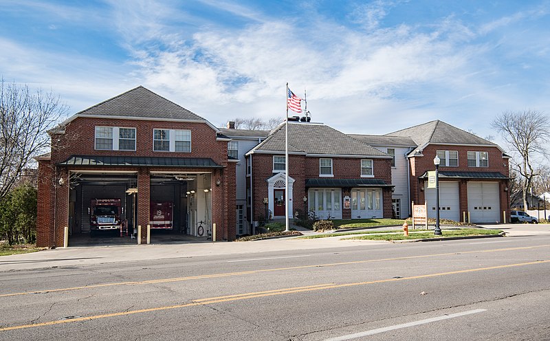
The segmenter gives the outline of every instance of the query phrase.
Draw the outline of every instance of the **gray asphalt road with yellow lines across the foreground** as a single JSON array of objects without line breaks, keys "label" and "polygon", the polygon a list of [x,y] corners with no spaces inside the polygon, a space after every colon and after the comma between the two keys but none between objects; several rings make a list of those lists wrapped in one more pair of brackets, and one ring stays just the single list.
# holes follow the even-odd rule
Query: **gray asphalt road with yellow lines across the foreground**
[{"label": "gray asphalt road with yellow lines across the foreground", "polygon": [[0,340],[550,340],[550,236],[0,272]]}]

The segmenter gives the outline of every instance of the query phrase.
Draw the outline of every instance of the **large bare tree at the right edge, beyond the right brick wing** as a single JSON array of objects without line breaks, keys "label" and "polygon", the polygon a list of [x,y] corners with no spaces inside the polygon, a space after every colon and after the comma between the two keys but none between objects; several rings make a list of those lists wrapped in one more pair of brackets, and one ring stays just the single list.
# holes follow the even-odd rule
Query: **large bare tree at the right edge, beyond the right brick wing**
[{"label": "large bare tree at the right edge, beyond the right brick wing", "polygon": [[534,161],[536,155],[544,155],[544,142],[550,140],[550,122],[541,111],[505,111],[498,115],[492,126],[503,136],[507,147],[516,157],[512,167],[520,175],[524,206],[527,208],[527,194],[538,175]]}]

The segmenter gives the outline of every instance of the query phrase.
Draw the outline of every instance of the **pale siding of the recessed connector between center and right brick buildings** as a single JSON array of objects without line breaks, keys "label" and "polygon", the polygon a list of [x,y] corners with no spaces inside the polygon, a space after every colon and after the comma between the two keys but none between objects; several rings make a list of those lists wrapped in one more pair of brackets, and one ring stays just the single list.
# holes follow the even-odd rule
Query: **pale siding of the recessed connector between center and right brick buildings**
[{"label": "pale siding of the recessed connector between center and right brick buildings", "polygon": [[409,148],[399,148],[395,146],[375,146],[379,151],[386,153],[388,148],[395,149],[395,167],[391,168],[391,184],[395,186],[392,193],[392,199],[401,199],[401,219],[409,216],[410,200],[408,191],[408,159],[405,156]]}]

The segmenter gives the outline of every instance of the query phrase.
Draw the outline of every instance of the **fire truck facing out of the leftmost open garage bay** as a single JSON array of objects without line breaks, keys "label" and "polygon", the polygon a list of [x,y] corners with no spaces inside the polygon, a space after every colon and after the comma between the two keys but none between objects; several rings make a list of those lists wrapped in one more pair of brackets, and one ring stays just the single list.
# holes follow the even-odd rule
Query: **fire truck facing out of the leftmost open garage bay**
[{"label": "fire truck facing out of the leftmost open garage bay", "polygon": [[98,230],[120,230],[122,202],[120,199],[91,199],[90,233]]}]

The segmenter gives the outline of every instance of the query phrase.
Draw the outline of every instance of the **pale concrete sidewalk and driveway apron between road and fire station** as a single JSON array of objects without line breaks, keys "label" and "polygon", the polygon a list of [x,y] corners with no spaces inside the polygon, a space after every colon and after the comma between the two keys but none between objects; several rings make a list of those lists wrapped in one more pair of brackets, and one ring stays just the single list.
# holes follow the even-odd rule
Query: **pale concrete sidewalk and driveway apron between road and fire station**
[{"label": "pale concrete sidewalk and driveway apron between road and fire station", "polygon": [[[292,226],[300,230],[304,235],[320,234]],[[504,230],[507,236],[538,236],[550,235],[550,225],[543,224],[503,224],[503,225],[483,225],[483,228],[495,228]],[[398,226],[376,228],[369,230],[398,230]],[[184,243],[184,244],[164,244],[164,245],[113,245],[113,246],[93,246],[76,248],[57,248],[54,250],[44,250],[30,254],[15,254],[12,256],[0,257],[0,271],[30,270],[51,267],[63,267],[70,265],[94,265],[101,263],[114,263],[120,261],[147,261],[153,259],[177,259],[177,258],[196,258],[204,256],[219,255],[247,255],[243,258],[249,258],[253,254],[260,252],[278,252],[294,250],[315,250],[322,248],[342,248],[358,245],[380,245],[386,241],[344,241],[340,238],[320,238],[320,239],[296,239],[296,237],[287,237],[281,239],[266,239],[262,241],[246,242],[227,242],[219,241],[216,243]]]}]

